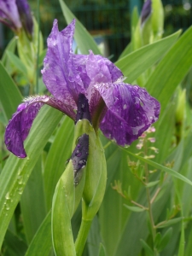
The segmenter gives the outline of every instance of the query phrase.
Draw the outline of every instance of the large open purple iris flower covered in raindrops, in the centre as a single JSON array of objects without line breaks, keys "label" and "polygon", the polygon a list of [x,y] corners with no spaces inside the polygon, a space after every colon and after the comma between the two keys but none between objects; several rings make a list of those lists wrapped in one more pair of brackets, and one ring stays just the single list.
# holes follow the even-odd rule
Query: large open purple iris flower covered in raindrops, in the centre
[{"label": "large open purple iris flower covered in raindrops, in the centre", "polygon": [[42,74],[52,96],[29,97],[9,120],[5,144],[21,158],[26,157],[23,142],[44,104],[61,110],[75,121],[79,95],[83,94],[95,130],[100,127],[106,137],[121,146],[130,145],[159,118],[160,103],[145,89],[124,84],[123,74],[107,58],[92,51],[90,55],[73,54],[74,29],[75,20],[59,32],[55,20],[47,40]]}]

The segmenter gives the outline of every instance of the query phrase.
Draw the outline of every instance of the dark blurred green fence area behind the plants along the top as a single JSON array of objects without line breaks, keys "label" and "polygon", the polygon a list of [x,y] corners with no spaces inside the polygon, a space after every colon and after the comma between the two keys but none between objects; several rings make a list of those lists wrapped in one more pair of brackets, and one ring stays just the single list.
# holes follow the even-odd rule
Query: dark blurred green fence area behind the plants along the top
[{"label": "dark blurred green fence area behind the plants along the top", "polygon": [[[32,12],[37,16],[37,1],[29,1]],[[119,54],[130,42],[131,11],[134,6],[140,13],[142,0],[67,0],[68,7],[83,23],[91,35],[96,37],[98,44],[106,56],[116,61]],[[183,31],[192,24],[192,0],[163,0],[165,9],[164,36]],[[44,35],[44,44],[49,36],[53,20],[59,20],[59,27],[63,29],[67,23],[63,19],[59,1],[40,0],[40,27]],[[9,28],[0,25],[0,55],[13,37]]]}]

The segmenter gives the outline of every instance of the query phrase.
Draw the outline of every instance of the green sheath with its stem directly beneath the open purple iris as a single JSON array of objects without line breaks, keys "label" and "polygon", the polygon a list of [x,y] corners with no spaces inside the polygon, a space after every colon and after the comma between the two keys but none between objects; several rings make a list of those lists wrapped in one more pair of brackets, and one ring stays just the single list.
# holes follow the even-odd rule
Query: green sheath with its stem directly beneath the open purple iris
[{"label": "green sheath with its stem directly beneath the open purple iris", "polygon": [[77,256],[82,255],[92,219],[98,212],[106,189],[107,166],[102,143],[87,119],[79,120],[75,127],[75,137],[89,135],[89,157],[86,164],[84,193],[82,202],[82,222],[75,241]]}]

